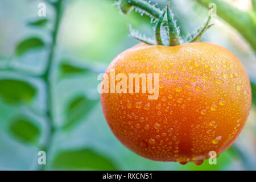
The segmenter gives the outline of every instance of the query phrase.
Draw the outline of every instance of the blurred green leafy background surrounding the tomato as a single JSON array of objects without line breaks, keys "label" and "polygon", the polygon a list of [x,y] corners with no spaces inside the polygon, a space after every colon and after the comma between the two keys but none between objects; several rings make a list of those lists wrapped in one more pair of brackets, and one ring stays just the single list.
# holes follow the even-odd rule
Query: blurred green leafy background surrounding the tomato
[{"label": "blurred green leafy background surrounding the tomato", "polygon": [[[47,20],[38,17],[46,3]],[[159,7],[167,4],[157,2]],[[250,0],[229,1],[242,11]],[[150,18],[134,11],[121,15],[110,0],[67,0],[52,57],[51,90],[42,74],[51,53],[56,9],[47,1],[0,1],[0,169],[106,170],[256,170],[256,106],[234,146],[201,166],[154,162],[125,148],[110,131],[97,92],[97,75],[120,52],[137,44],[127,24],[153,35]],[[196,1],[174,0],[181,36],[204,23],[208,9]],[[218,7],[217,7],[218,11]],[[238,17],[239,18],[239,17]],[[240,32],[220,18],[201,39],[220,44],[240,58],[256,94],[255,52]],[[256,34],[256,33],[255,33]],[[48,94],[52,95],[49,127]],[[54,130],[52,130],[54,128]],[[38,151],[47,150],[47,165],[38,165]]]}]

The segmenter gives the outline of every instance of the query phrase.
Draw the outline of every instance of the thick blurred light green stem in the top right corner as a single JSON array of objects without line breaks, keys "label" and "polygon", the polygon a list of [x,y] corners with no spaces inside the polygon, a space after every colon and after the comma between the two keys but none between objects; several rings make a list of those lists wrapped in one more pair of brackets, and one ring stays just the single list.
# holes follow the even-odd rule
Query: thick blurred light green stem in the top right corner
[{"label": "thick blurred light green stem in the top right corner", "polygon": [[[196,0],[201,5],[208,8],[210,3],[215,3],[217,15],[228,22],[232,27],[247,40],[256,52],[256,15],[253,11],[241,11],[230,3],[222,0]],[[252,1],[255,7],[255,0]],[[255,9],[254,9],[255,10]]]}]

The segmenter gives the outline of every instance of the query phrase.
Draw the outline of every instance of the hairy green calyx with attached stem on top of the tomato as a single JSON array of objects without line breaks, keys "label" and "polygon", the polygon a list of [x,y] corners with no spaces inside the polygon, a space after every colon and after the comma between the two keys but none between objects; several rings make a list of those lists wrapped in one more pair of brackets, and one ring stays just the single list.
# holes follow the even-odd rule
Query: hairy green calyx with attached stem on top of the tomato
[{"label": "hairy green calyx with attached stem on top of the tomato", "polygon": [[[135,8],[139,13],[151,16],[151,18],[156,20],[155,40],[147,38],[146,36],[140,34],[138,31],[133,30],[133,28],[129,26],[131,37],[150,45],[177,46],[181,42],[196,42],[201,38],[203,33],[213,25],[209,24],[212,15],[212,13],[210,13],[207,21],[202,27],[198,28],[192,34],[189,34],[187,38],[182,39],[180,37],[179,27],[177,26],[176,20],[174,18],[174,13],[172,13],[172,10],[170,8],[170,2],[168,2],[168,5],[164,10],[160,10],[155,7],[155,5],[151,5],[149,2],[143,0],[119,0],[118,5],[119,9],[123,14],[129,13],[133,8]],[[162,40],[162,34],[168,35],[168,41]]]}]

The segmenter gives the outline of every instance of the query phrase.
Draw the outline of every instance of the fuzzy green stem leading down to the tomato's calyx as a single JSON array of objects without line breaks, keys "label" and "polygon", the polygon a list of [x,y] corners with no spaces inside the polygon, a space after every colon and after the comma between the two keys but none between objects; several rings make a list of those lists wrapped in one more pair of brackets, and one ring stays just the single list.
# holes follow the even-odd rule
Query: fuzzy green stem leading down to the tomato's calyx
[{"label": "fuzzy green stem leading down to the tomato's calyx", "polygon": [[[150,3],[142,1],[142,0],[121,0],[121,2],[125,2],[126,4],[130,6],[137,7],[141,10],[146,11],[151,16],[153,16],[155,19],[159,19],[159,17],[163,14],[163,12],[156,7],[150,5]],[[127,13],[126,11],[123,11],[123,13]]]}]

